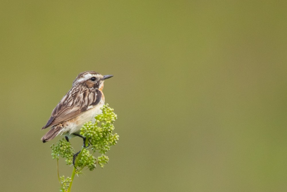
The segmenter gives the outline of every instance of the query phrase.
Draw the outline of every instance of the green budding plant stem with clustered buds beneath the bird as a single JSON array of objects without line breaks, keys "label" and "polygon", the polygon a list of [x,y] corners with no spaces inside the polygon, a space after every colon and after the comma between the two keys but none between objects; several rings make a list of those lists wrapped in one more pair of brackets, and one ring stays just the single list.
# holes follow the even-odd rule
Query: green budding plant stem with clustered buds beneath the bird
[{"label": "green budding plant stem with clustered buds beneath the bird", "polygon": [[[60,139],[56,145],[51,145],[52,158],[57,160],[57,176],[61,185],[60,191],[71,192],[75,175],[82,173],[85,167],[92,171],[96,168],[96,164],[103,168],[104,165],[108,163],[109,158],[104,154],[119,140],[117,133],[112,134],[115,129],[113,123],[117,119],[117,115],[113,112],[113,109],[108,107],[108,104],[103,105],[100,109],[102,113],[96,114],[96,121],[94,123],[92,121],[84,123],[79,130],[79,135],[86,139],[81,151],[77,153],[77,156],[71,143],[64,138]],[[100,125],[98,126],[98,124]],[[89,144],[92,146],[88,147]],[[89,149],[92,149],[93,152],[90,153],[91,151]],[[96,158],[94,157],[95,152],[102,155]],[[74,165],[71,177],[60,177],[59,157],[66,158],[65,161],[67,165]]]}]

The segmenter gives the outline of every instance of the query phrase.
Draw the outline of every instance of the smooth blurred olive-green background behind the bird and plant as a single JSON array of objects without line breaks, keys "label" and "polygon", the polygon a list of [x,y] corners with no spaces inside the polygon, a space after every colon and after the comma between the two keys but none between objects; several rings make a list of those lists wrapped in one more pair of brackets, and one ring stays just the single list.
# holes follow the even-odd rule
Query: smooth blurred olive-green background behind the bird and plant
[{"label": "smooth blurred olive-green background behind the bird and plant", "polygon": [[286,1],[0,4],[1,191],[59,190],[40,128],[87,70],[120,138],[73,191],[287,190]]}]

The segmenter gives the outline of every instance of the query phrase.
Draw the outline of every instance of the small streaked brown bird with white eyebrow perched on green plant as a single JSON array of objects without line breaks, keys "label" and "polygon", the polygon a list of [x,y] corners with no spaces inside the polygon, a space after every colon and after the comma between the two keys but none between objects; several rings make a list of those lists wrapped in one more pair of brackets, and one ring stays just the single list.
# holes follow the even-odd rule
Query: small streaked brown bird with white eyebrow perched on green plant
[{"label": "small streaked brown bird with white eyebrow perched on green plant", "polygon": [[[61,99],[52,112],[47,124],[41,130],[52,127],[43,137],[43,143],[50,141],[57,135],[69,138],[79,136],[80,128],[86,122],[95,122],[96,114],[102,113],[100,107],[105,103],[102,92],[104,80],[113,75],[104,75],[86,71],[80,73],[73,81],[72,88]],[[82,137],[83,138],[83,137]],[[84,143],[85,143],[85,138]]]}]

